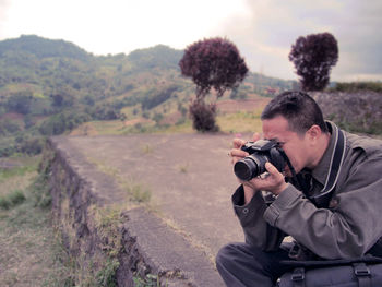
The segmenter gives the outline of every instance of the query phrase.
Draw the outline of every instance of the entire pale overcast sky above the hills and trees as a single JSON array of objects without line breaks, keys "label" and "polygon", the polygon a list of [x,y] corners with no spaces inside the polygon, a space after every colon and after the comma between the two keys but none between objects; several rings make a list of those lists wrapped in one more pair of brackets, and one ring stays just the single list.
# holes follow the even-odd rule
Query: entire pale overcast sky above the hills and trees
[{"label": "entire pale overcast sky above the hills and trees", "polygon": [[333,81],[382,81],[381,14],[381,0],[0,0],[0,40],[33,34],[98,56],[225,37],[252,72],[297,80],[291,45],[329,32]]}]

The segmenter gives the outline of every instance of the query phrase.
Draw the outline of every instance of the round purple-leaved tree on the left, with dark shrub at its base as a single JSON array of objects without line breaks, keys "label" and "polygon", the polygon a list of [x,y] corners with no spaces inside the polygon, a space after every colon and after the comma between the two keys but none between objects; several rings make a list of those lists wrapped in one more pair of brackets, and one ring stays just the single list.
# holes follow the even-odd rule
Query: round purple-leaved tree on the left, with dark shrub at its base
[{"label": "round purple-leaved tree on the left, with dark shrub at its base", "polygon": [[187,47],[179,67],[182,75],[191,77],[196,85],[196,98],[190,105],[193,127],[199,131],[218,130],[216,105],[205,104],[204,98],[211,88],[216,91],[217,98],[222,97],[246,77],[248,68],[237,47],[219,37],[196,41]]}]

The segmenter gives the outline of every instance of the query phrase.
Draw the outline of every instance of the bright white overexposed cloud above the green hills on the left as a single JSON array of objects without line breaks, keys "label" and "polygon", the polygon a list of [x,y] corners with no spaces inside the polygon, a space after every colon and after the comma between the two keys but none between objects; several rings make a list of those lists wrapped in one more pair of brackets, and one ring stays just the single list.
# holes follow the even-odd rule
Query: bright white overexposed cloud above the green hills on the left
[{"label": "bright white overexposed cloud above the green hills on the left", "polygon": [[[1,0],[0,0],[1,1]],[[130,52],[157,44],[174,48],[208,37],[242,0],[12,0],[7,37],[63,38],[91,52]]]}]

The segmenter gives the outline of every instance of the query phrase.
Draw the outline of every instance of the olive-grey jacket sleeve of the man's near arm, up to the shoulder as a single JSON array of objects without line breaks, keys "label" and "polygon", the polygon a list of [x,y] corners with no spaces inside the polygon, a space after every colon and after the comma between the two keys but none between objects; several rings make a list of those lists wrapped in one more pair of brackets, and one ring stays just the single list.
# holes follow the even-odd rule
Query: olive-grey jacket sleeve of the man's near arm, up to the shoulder
[{"label": "olive-grey jacket sleeve of the man's near arm, up to the shoulder", "polygon": [[317,208],[289,184],[264,212],[265,220],[325,259],[360,256],[382,236],[382,156],[355,153],[337,184],[333,208]]}]

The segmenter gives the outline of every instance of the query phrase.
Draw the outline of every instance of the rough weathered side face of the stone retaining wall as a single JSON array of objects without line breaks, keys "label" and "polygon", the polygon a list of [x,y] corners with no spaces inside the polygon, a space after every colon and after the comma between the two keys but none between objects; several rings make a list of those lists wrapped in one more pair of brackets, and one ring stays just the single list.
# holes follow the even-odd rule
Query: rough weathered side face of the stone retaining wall
[{"label": "rough weathered side face of the stone retaining wall", "polygon": [[[129,229],[129,211],[114,208],[118,199],[103,196],[96,184],[82,175],[92,167],[84,163],[80,166],[77,160],[49,140],[41,168],[48,176],[53,222],[69,251],[76,285],[134,286],[134,275],[145,278],[153,274],[164,282],[163,286],[165,282],[167,286],[189,286],[181,276],[171,278],[168,272],[146,262],[136,236]],[[110,189],[118,189],[105,175],[98,176],[99,180],[109,180]]]}]

